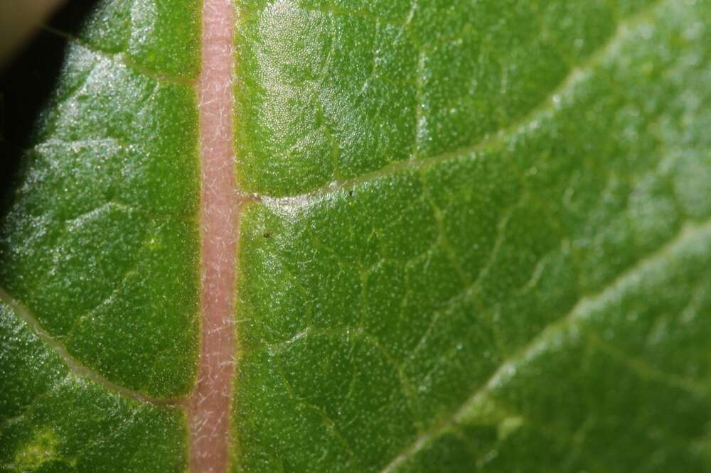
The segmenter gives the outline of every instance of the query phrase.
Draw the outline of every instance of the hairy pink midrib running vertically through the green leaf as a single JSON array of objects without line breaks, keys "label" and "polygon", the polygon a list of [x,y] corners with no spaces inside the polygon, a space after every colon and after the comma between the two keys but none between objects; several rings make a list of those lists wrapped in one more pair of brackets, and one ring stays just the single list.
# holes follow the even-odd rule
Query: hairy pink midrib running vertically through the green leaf
[{"label": "hairy pink midrib running vertically through the green leaf", "polygon": [[191,473],[223,473],[229,462],[234,373],[235,266],[240,202],[232,151],[232,0],[203,0],[198,82],[202,156],[201,350],[188,400]]}]

